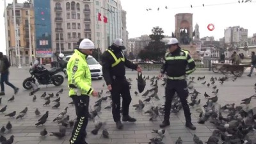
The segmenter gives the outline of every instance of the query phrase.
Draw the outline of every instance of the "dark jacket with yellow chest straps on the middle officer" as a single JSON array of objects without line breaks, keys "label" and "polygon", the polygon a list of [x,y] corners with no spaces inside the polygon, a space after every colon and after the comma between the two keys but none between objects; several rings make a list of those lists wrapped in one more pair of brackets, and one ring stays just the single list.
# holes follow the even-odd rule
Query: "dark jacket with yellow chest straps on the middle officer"
[{"label": "dark jacket with yellow chest straps on the middle officer", "polygon": [[138,65],[135,65],[131,61],[127,60],[125,58],[122,50],[118,47],[111,46],[109,47],[109,50],[115,54],[117,59],[124,58],[124,61],[120,61],[118,65],[112,66],[113,63],[115,63],[115,59],[111,55],[110,52],[104,51],[102,54],[102,72],[103,77],[106,81],[106,84],[112,84],[112,80],[115,77],[115,79],[124,79],[125,77],[125,67],[132,68],[134,70],[137,69]]}]

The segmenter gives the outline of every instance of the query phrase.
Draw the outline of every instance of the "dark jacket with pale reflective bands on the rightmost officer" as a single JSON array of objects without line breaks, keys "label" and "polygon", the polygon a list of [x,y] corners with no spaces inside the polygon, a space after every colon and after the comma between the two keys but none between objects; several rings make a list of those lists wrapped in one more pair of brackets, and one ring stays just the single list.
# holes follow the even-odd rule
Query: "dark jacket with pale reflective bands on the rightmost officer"
[{"label": "dark jacket with pale reflective bands on the rightmost officer", "polygon": [[178,47],[173,52],[166,52],[161,73],[166,73],[169,77],[180,77],[191,74],[196,70],[195,61],[191,58],[188,51]]}]

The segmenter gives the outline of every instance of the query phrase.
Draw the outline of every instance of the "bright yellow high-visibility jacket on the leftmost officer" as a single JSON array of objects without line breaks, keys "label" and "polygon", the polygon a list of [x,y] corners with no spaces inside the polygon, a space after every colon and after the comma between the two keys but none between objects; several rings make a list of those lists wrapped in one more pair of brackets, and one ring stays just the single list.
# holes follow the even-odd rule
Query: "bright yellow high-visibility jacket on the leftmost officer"
[{"label": "bright yellow high-visibility jacket on the leftmost officer", "polygon": [[75,49],[67,64],[69,96],[91,95],[92,77],[86,55]]}]

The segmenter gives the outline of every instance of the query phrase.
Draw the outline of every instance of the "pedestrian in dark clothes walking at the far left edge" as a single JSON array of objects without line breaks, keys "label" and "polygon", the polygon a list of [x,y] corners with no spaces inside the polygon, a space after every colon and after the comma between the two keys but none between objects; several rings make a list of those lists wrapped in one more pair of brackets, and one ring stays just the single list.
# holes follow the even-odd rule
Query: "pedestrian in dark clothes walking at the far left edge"
[{"label": "pedestrian in dark clothes walking at the far left edge", "polygon": [[19,92],[19,88],[17,88],[16,86],[14,86],[12,83],[9,82],[9,74],[10,74],[9,68],[10,68],[10,62],[8,61],[8,58],[3,55],[3,52],[0,52],[0,73],[1,73],[0,95],[5,95],[4,83],[13,88],[15,95]]}]

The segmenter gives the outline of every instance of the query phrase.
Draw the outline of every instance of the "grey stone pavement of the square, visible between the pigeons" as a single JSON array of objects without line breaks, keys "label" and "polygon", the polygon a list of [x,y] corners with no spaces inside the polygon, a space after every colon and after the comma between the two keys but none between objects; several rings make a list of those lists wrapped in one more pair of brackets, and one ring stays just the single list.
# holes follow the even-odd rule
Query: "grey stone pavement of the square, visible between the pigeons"
[{"label": "grey stone pavement of the square, visible between the pigeons", "polygon": [[[65,82],[61,86],[44,86],[41,85],[40,88],[41,90],[36,93],[37,99],[36,102],[32,102],[32,97],[28,95],[30,91],[24,90],[22,88],[22,81],[26,78],[29,77],[28,73],[28,67],[26,68],[15,68],[12,67],[10,68],[10,82],[13,83],[15,86],[18,86],[20,88],[19,93],[17,96],[15,96],[14,102],[7,102],[8,99],[13,95],[13,90],[5,85],[6,88],[6,95],[1,96],[2,99],[2,104],[0,104],[0,108],[3,108],[3,106],[8,105],[7,110],[2,114],[0,113],[0,127],[5,126],[8,121],[10,121],[13,124],[12,131],[6,132],[4,136],[6,138],[10,138],[10,136],[13,134],[15,136],[14,138],[14,143],[17,144],[68,144],[68,140],[70,138],[70,132],[72,129],[68,128],[67,129],[67,136],[59,140],[58,138],[55,138],[53,136],[49,136],[49,134],[42,138],[39,134],[42,129],[46,128],[48,132],[56,132],[58,131],[58,124],[56,122],[52,122],[52,120],[66,107],[68,106],[68,103],[72,101],[68,97],[68,88],[67,88],[67,79],[65,79]],[[143,72],[143,75],[146,76],[157,76],[158,72],[157,71],[150,71],[150,72]],[[138,100],[144,100],[146,99],[145,97],[141,97],[142,93],[138,94],[138,96],[134,95],[134,92],[138,92],[138,88],[136,85],[136,76],[137,73],[131,72],[130,70],[127,72],[127,78],[131,77],[133,79],[132,81],[132,88],[131,88],[131,95],[132,95],[132,104],[137,104]],[[205,76],[205,81],[207,83],[209,82],[209,79],[211,76],[216,76],[220,77],[222,76],[221,74],[214,74],[213,72],[209,72],[207,70],[196,70],[194,74],[191,75],[195,76],[196,78],[198,76],[202,77]],[[249,97],[250,95],[255,94],[255,90],[253,89],[253,85],[255,83],[255,77],[247,77],[246,74],[242,77],[238,77],[236,81],[227,81],[225,82],[222,86],[220,83],[216,83],[217,87],[220,89],[220,92],[218,94],[219,100],[218,104],[223,104],[226,103],[235,103],[239,104],[241,102],[241,99],[244,99],[246,97]],[[201,92],[202,94],[198,95],[198,99],[201,99],[201,104],[205,104],[206,100],[204,98],[204,92],[207,92],[209,95],[212,95],[212,86],[211,85],[209,88],[207,86],[202,85],[201,83],[204,81],[197,81],[195,79],[195,88],[198,92]],[[217,81],[216,81],[217,82]],[[108,96],[109,94],[106,94],[107,88],[106,86],[102,87],[102,84],[104,83],[104,80],[93,80],[93,88],[96,90],[103,90],[102,97]],[[88,136],[86,138],[86,141],[88,143],[127,143],[127,144],[146,144],[149,142],[150,138],[154,138],[157,136],[157,134],[152,134],[151,131],[152,129],[159,129],[159,124],[163,120],[163,116],[159,116],[157,118],[156,122],[150,122],[147,114],[144,114],[145,111],[147,111],[150,106],[161,106],[164,104],[163,96],[164,96],[164,86],[161,86],[162,81],[159,81],[159,92],[158,95],[161,100],[151,100],[150,104],[146,104],[145,108],[142,111],[137,111],[130,107],[130,115],[134,116],[137,118],[137,122],[135,123],[126,123],[124,122],[124,129],[123,130],[118,130],[115,127],[115,123],[113,122],[113,118],[111,115],[111,109],[104,109],[106,106],[108,106],[111,102],[111,100],[107,100],[106,102],[102,102],[102,112],[100,113],[100,118],[96,118],[96,121],[106,121],[107,126],[106,129],[108,129],[109,132],[109,139],[102,138],[102,130],[99,131],[97,136],[94,136],[90,133],[90,131],[93,130],[94,124],[93,122],[89,122],[88,127],[87,127],[87,132]],[[43,92],[47,93],[56,93],[60,88],[63,88],[64,92],[60,95],[61,97],[61,105],[60,108],[58,109],[52,109],[51,106],[54,105],[53,102],[51,102],[51,106],[42,106],[45,102],[44,99],[40,99],[40,95],[42,95]],[[147,86],[145,90],[150,89],[150,82],[147,81]],[[191,90],[192,91],[192,90]],[[52,98],[51,100],[56,99],[56,97]],[[93,104],[97,100],[96,98],[91,98],[90,105],[92,105],[93,109]],[[190,102],[190,100],[189,100]],[[256,100],[253,99],[250,106],[255,106]],[[16,118],[8,118],[4,116],[4,114],[11,113],[12,111],[17,111],[17,115],[22,109],[25,107],[28,107],[28,113],[26,116],[24,116],[23,119],[16,120]],[[45,123],[44,126],[38,126],[35,127],[35,123],[37,122],[38,118],[40,116],[35,116],[35,109],[38,108],[43,115],[45,111],[49,111],[49,118],[47,122]],[[179,138],[179,136],[183,140],[183,144],[191,144],[193,143],[193,134],[196,134],[197,136],[200,137],[201,140],[207,141],[209,136],[211,136],[212,131],[214,130],[214,126],[210,124],[209,122],[206,122],[205,124],[197,124],[198,120],[198,115],[199,113],[196,112],[196,107],[191,108],[192,112],[192,119],[193,119],[193,124],[196,125],[196,131],[191,131],[187,129],[184,124],[185,124],[185,118],[183,111],[180,111],[177,115],[174,115],[173,113],[171,114],[171,126],[166,127],[166,133],[165,133],[165,138],[164,138],[164,143],[166,144],[172,144],[173,142]],[[16,116],[17,116],[16,115]],[[75,109],[74,106],[68,106],[68,113],[67,115],[70,115],[70,119],[76,118],[75,115]]]}]

